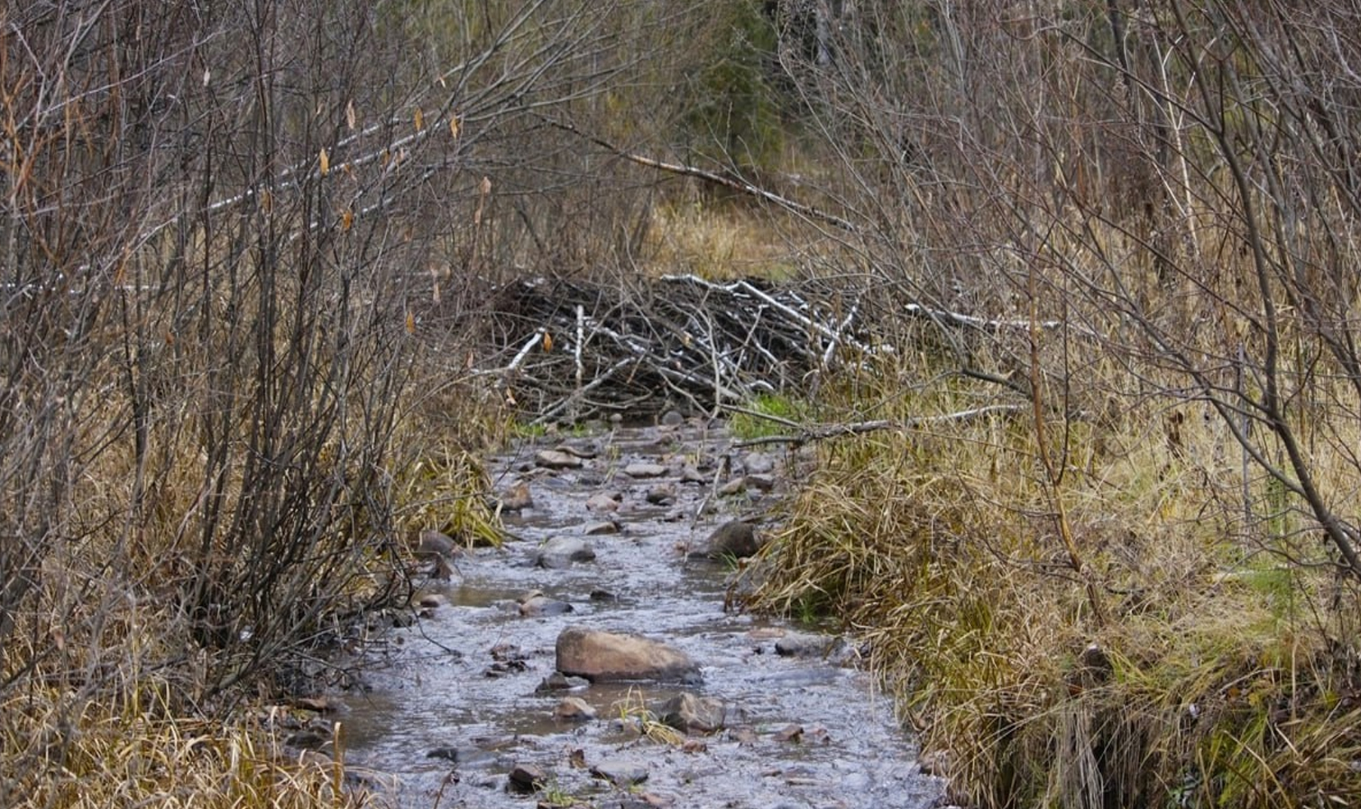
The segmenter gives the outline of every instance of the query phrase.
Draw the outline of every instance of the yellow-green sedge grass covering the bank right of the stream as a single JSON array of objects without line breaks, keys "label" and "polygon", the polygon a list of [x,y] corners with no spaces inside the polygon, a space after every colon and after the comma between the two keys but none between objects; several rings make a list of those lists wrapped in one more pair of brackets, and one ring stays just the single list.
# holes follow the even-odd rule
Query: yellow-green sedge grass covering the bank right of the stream
[{"label": "yellow-green sedge grass covering the bank right of the stream", "polygon": [[[931,375],[893,369],[864,396],[863,375],[845,421],[995,395],[897,381],[911,377]],[[1354,588],[1327,567],[1282,569],[1322,558],[1319,546],[1282,535],[1279,493],[1243,478],[1213,419],[1168,421],[1195,414],[1172,398],[1141,406],[1161,418],[1064,424],[1057,486],[1030,414],[822,444],[755,603],[814,605],[868,640],[923,748],[947,753],[954,790],[979,806],[1361,802],[1361,714],[1342,696],[1358,685],[1343,635]],[[1244,512],[1245,488],[1266,518]],[[1089,646],[1106,670],[1083,663]]]}]

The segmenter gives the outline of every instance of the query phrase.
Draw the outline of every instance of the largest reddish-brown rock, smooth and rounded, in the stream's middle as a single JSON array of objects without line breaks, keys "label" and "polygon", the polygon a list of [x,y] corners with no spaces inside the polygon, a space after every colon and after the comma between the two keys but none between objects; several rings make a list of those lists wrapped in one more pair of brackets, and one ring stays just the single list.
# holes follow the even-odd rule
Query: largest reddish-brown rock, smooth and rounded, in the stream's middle
[{"label": "largest reddish-brown rock, smooth and rounded, in the stream's middle", "polygon": [[700,682],[683,651],[642,635],[569,626],[558,635],[558,671],[592,682],[660,680]]}]

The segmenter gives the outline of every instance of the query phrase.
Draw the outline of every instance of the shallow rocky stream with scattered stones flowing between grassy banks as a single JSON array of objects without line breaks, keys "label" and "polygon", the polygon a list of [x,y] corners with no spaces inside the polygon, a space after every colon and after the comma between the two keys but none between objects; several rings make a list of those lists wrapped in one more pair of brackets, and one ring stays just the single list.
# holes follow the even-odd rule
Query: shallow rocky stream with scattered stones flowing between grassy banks
[{"label": "shallow rocky stream with scattered stones flowing between grassy banks", "polygon": [[393,631],[387,665],[339,716],[346,763],[382,774],[377,801],[939,801],[848,643],[724,610],[734,557],[759,535],[740,518],[777,496],[783,459],[667,421],[494,459],[520,539],[430,580],[422,618]]}]

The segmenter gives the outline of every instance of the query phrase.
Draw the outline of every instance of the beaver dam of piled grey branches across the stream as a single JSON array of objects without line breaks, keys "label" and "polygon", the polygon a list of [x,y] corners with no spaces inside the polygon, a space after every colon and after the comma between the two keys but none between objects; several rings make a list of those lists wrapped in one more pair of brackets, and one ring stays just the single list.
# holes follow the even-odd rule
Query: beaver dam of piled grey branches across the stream
[{"label": "beaver dam of piled grey branches across the stream", "polygon": [[497,353],[482,373],[538,421],[715,411],[872,350],[857,308],[808,285],[535,279],[499,287],[489,306]]}]

